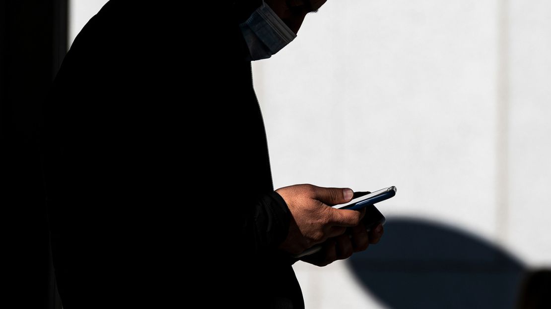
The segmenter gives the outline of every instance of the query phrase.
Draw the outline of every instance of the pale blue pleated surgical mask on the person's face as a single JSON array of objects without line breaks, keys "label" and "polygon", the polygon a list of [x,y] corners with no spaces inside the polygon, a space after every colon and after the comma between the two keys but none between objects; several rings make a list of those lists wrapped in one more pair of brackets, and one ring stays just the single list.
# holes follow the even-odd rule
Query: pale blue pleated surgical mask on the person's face
[{"label": "pale blue pleated surgical mask on the person's face", "polygon": [[249,47],[248,60],[272,57],[296,37],[295,32],[263,2],[239,27]]}]

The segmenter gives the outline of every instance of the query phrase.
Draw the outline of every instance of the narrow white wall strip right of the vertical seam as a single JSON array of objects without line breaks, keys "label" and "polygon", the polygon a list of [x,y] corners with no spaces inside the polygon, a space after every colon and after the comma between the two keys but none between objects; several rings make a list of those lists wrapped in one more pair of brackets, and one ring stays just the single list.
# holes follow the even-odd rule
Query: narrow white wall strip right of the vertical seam
[{"label": "narrow white wall strip right of the vertical seam", "polygon": [[551,264],[551,2],[511,1],[507,243]]}]

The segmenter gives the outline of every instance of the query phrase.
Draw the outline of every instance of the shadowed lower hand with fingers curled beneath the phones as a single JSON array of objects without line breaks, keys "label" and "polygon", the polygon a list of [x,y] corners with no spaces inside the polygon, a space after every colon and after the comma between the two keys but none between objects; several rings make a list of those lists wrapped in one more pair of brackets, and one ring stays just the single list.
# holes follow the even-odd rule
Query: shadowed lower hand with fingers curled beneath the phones
[{"label": "shadowed lower hand with fingers curled beneath the phones", "polygon": [[[367,218],[366,218],[367,219]],[[337,260],[349,258],[352,253],[368,249],[369,244],[376,244],[382,237],[382,224],[371,231],[367,231],[364,224],[348,228],[335,238],[330,238],[322,244],[322,249],[312,255],[301,257],[300,260],[316,266],[326,266]]]}]

